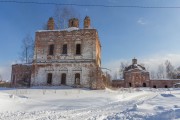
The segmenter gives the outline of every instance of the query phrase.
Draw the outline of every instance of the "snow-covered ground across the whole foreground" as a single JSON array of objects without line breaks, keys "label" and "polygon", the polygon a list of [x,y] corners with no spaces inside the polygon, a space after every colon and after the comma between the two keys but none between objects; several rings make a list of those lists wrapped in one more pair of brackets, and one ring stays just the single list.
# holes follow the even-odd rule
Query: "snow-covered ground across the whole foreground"
[{"label": "snow-covered ground across the whole foreground", "polygon": [[0,120],[180,120],[180,89],[0,88]]}]

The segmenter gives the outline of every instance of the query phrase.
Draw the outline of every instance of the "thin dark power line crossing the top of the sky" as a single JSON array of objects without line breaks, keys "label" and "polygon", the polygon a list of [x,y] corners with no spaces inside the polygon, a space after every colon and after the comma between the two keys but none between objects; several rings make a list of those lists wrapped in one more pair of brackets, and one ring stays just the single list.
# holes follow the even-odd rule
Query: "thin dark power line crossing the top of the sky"
[{"label": "thin dark power line crossing the top of the sky", "polygon": [[55,3],[55,2],[33,2],[33,1],[15,1],[15,0],[0,0],[1,3],[19,3],[19,4],[39,4],[39,5],[59,5],[59,6],[78,6],[78,7],[106,7],[106,8],[150,8],[150,9],[179,9],[180,6],[140,6],[140,5],[90,5],[90,4],[75,4],[75,3]]}]

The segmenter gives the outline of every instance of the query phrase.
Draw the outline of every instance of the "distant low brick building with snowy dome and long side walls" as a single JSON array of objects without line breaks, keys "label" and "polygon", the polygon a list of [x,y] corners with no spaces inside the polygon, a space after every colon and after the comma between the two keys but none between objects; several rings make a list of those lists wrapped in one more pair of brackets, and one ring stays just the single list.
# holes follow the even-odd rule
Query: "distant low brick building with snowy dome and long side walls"
[{"label": "distant low brick building with snowy dome and long side walls", "polygon": [[137,59],[132,59],[132,64],[124,69],[123,80],[112,80],[113,87],[153,87],[169,88],[180,83],[178,79],[150,80],[149,72],[145,67],[137,64]]}]

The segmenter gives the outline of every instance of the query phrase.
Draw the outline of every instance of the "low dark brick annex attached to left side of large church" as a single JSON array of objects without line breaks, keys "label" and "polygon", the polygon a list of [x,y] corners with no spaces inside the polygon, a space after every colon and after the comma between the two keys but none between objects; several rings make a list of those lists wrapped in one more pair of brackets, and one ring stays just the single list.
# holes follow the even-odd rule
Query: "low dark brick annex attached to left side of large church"
[{"label": "low dark brick annex attached to left side of large church", "polygon": [[14,64],[12,65],[11,86],[30,86],[31,81],[31,64]]}]

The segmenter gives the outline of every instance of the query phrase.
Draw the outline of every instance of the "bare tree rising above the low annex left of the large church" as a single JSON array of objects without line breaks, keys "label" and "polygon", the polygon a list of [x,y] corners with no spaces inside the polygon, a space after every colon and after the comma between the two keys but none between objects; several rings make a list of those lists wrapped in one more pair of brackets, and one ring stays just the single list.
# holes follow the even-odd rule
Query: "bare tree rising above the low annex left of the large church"
[{"label": "bare tree rising above the low annex left of the large church", "polygon": [[34,55],[34,40],[30,35],[22,40],[21,53],[19,55],[22,62],[31,63]]}]

